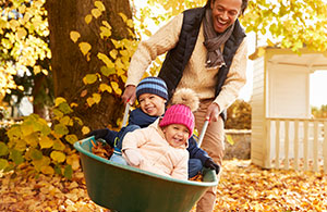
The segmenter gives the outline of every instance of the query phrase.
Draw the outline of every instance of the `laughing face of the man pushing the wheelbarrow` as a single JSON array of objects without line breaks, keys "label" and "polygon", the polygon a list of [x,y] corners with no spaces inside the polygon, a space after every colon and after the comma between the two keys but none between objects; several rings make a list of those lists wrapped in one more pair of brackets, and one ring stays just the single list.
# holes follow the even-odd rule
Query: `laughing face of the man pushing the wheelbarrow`
[{"label": "laughing face of the man pushing the wheelbarrow", "polygon": [[211,0],[213,24],[217,33],[223,33],[241,14],[242,0]]}]

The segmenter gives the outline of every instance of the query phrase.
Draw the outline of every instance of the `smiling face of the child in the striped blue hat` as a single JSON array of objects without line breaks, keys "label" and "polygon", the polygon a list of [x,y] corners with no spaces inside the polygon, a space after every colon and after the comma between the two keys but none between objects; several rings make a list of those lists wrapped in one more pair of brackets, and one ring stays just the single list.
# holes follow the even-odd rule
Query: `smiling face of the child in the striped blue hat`
[{"label": "smiling face of the child in the striped blue hat", "polygon": [[138,97],[141,110],[150,116],[160,116],[165,113],[166,99],[153,95],[143,93]]}]

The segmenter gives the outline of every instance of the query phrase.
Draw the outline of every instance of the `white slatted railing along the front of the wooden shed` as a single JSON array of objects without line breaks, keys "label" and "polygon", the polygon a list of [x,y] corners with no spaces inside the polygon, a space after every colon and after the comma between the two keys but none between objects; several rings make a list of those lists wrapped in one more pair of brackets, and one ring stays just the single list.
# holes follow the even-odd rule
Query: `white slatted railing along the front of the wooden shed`
[{"label": "white slatted railing along the front of the wooden shed", "polygon": [[327,120],[267,119],[267,165],[327,173]]}]

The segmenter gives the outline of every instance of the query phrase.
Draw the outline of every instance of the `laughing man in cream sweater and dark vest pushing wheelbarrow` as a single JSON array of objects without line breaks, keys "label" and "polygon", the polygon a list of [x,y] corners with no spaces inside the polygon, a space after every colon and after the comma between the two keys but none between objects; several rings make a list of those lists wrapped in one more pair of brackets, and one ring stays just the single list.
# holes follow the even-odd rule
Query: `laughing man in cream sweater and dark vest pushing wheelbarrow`
[{"label": "laughing man in cream sweater and dark vest pushing wheelbarrow", "polygon": [[[247,47],[238,17],[247,0],[208,0],[204,8],[184,11],[138,45],[128,72],[124,102],[135,100],[135,86],[157,55],[167,53],[159,73],[171,97],[177,88],[192,88],[201,104],[195,124],[210,122],[202,148],[221,165],[226,109],[244,86]],[[216,187],[198,201],[197,212],[214,210]]]}]

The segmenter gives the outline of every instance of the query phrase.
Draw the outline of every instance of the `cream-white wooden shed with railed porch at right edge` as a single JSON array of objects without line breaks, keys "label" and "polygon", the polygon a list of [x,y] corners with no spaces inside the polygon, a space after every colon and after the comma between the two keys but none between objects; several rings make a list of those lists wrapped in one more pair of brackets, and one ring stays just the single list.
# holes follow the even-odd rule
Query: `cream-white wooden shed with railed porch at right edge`
[{"label": "cream-white wooden shed with railed porch at right edge", "polygon": [[[254,61],[251,160],[266,169],[327,172],[327,120],[311,115],[310,74],[327,53],[258,48]],[[327,82],[326,82],[327,84]],[[322,97],[323,98],[323,97]]]}]

